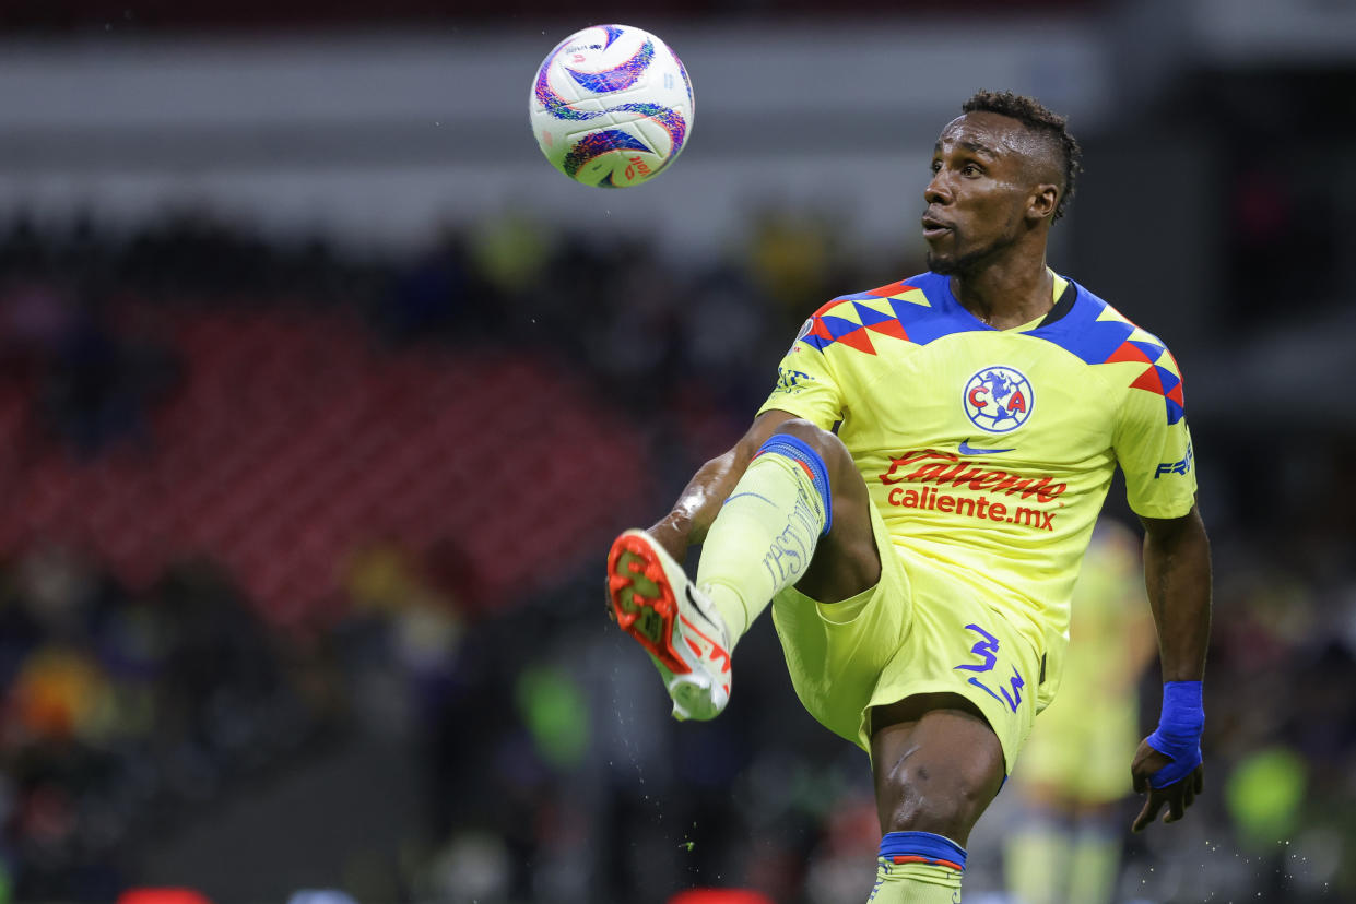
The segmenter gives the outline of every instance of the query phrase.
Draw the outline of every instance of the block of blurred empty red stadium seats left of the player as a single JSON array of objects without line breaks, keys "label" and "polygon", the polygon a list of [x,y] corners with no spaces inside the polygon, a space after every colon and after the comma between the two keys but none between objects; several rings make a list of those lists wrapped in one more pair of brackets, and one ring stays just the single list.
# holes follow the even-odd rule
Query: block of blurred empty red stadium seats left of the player
[{"label": "block of blurred empty red stadium seats left of the player", "polygon": [[[644,491],[624,419],[568,374],[509,352],[374,351],[340,317],[193,313],[174,325],[182,385],[151,451],[88,464],[50,445],[11,478],[0,553],[28,537],[89,545],[141,584],[206,554],[266,617],[332,613],[355,550],[453,542],[487,599],[532,592],[492,564],[541,550],[537,580],[605,543]],[[0,439],[23,449],[0,381]]]}]

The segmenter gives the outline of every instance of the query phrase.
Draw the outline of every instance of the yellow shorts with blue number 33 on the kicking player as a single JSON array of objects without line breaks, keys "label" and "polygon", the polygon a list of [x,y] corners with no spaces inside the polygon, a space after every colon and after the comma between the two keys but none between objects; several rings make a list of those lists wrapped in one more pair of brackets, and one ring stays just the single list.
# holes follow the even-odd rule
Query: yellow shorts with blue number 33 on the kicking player
[{"label": "yellow shorts with blue number 33 on the kicking player", "polygon": [[871,752],[872,706],[915,694],[960,694],[1003,747],[1008,773],[1036,713],[1040,656],[971,588],[904,560],[875,506],[880,581],[818,603],[788,587],[773,599],[792,686],[810,714]]}]

